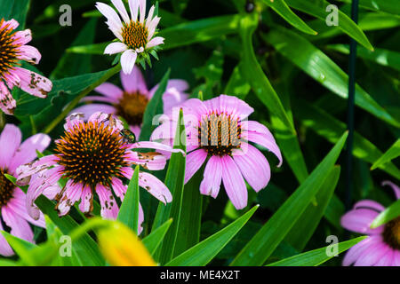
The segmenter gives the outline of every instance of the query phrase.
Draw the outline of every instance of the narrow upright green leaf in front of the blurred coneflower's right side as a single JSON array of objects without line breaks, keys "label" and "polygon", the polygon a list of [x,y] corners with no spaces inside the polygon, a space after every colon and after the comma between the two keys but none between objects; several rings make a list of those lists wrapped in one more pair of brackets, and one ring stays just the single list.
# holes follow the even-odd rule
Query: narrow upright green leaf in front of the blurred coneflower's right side
[{"label": "narrow upright green leaf in front of the blurred coneflower's right side", "polygon": [[140,138],[139,141],[147,141],[153,130],[155,129],[155,125],[153,120],[156,117],[156,114],[163,114],[163,94],[164,91],[166,90],[166,86],[168,83],[168,80],[170,79],[170,73],[171,70],[168,69],[168,71],[165,73],[163,79],[161,79],[160,84],[158,85],[158,88],[153,96],[153,98],[150,99],[148,102],[148,106],[146,106],[145,113],[143,114],[143,124],[141,126],[140,130]]}]

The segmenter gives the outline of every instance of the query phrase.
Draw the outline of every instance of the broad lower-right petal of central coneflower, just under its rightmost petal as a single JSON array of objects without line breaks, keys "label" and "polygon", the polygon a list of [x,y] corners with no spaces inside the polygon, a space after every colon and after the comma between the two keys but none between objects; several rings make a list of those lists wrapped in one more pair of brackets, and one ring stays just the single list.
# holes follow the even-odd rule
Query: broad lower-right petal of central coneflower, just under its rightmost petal
[{"label": "broad lower-right petal of central coneflower, just under its rightmost petal", "polygon": [[266,187],[271,177],[271,169],[265,156],[254,146],[242,142],[243,150],[234,150],[233,158],[244,178],[256,192]]}]

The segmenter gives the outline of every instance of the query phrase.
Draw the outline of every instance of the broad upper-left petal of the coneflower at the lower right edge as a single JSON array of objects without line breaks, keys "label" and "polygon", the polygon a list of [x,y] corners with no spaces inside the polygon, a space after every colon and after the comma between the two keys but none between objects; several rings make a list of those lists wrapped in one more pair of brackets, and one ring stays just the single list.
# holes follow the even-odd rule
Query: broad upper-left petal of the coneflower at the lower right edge
[{"label": "broad upper-left petal of the coneflower at the lower right edge", "polygon": [[378,216],[378,214],[378,212],[372,209],[353,209],[341,217],[340,224],[349,231],[356,233],[382,233],[383,226],[376,229],[370,228],[372,221]]}]

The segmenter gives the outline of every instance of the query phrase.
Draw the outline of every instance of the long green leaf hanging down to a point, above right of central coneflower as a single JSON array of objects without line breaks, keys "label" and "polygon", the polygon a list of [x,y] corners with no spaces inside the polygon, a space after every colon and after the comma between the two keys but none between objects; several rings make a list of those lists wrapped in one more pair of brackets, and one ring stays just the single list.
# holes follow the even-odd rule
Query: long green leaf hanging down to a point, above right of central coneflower
[{"label": "long green leaf hanging down to a point, above right of central coneflower", "polygon": [[257,18],[243,17],[241,20],[241,36],[243,41],[243,58],[240,63],[240,72],[245,80],[252,86],[260,101],[267,106],[271,114],[275,114],[284,123],[286,129],[296,133],[294,126],[284,111],[284,106],[276,91],[269,83],[267,76],[262,71],[252,48],[252,34],[257,26]]}]

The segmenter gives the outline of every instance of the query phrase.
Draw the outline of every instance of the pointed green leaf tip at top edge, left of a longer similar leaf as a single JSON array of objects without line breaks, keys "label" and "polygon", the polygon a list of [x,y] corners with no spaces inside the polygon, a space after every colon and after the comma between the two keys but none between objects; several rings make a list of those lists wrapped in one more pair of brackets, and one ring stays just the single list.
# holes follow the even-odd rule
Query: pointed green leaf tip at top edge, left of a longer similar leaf
[{"label": "pointed green leaf tip at top edge, left of a longer similar leaf", "polygon": [[316,35],[317,32],[309,28],[308,25],[301,20],[294,12],[292,12],[291,8],[284,2],[284,0],[263,0],[263,3],[267,4],[278,13],[284,20],[286,20],[289,24],[291,24],[294,28],[299,29],[303,33],[309,35]]}]

